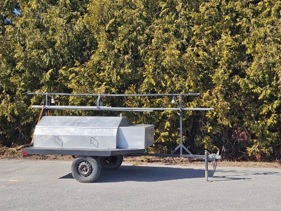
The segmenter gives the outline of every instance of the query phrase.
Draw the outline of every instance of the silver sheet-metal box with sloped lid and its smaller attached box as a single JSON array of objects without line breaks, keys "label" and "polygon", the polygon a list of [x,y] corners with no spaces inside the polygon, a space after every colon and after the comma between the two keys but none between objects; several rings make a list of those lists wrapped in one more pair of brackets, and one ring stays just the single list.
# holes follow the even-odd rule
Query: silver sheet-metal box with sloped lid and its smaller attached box
[{"label": "silver sheet-metal box with sloped lid and its smaller attached box", "polygon": [[130,125],[126,117],[45,116],[35,127],[33,146],[144,149],[153,144],[153,132],[153,125]]}]

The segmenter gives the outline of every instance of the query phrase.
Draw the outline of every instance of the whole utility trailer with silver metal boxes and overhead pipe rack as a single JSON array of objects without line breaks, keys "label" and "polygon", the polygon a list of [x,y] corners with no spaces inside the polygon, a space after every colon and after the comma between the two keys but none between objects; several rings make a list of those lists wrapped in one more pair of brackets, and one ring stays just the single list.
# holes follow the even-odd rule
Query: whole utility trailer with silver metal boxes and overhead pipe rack
[{"label": "whole utility trailer with silver metal boxes and overhead pipe rack", "polygon": [[[187,94],[70,94],[70,93],[23,93],[28,95],[45,95],[43,105],[33,105],[41,109],[46,116],[38,122],[32,139],[33,147],[23,150],[28,155],[71,155],[74,159],[71,166],[72,176],[79,182],[91,183],[98,179],[101,169],[115,170],[123,162],[123,156],[157,156],[184,157],[205,160],[205,181],[208,181],[208,160],[212,160],[214,170],[219,154],[193,155],[182,143],[182,113],[187,110],[210,111],[213,108],[183,108],[183,96],[198,96],[198,93]],[[92,96],[97,97],[96,106],[55,106],[54,96]],[[51,96],[51,101],[49,97]],[[102,97],[163,97],[179,98],[175,108],[128,108],[103,106]],[[50,103],[51,102],[51,103]],[[179,114],[180,144],[171,154],[145,153],[153,145],[153,125],[131,125],[126,117],[105,116],[48,116],[48,110],[102,110],[102,111],[138,111],[152,112],[158,110],[176,110]],[[174,154],[179,150],[180,154]],[[188,154],[183,154],[183,150]]]}]

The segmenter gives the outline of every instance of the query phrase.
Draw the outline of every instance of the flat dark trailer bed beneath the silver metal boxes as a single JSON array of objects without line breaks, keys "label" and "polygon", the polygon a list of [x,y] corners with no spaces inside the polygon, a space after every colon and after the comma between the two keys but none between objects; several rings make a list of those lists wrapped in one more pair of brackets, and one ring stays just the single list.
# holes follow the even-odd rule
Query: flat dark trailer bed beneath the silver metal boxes
[{"label": "flat dark trailer bed beneath the silver metal boxes", "polygon": [[144,149],[91,149],[91,148],[48,148],[28,147],[23,150],[25,155],[79,155],[79,156],[116,156],[144,153]]}]

